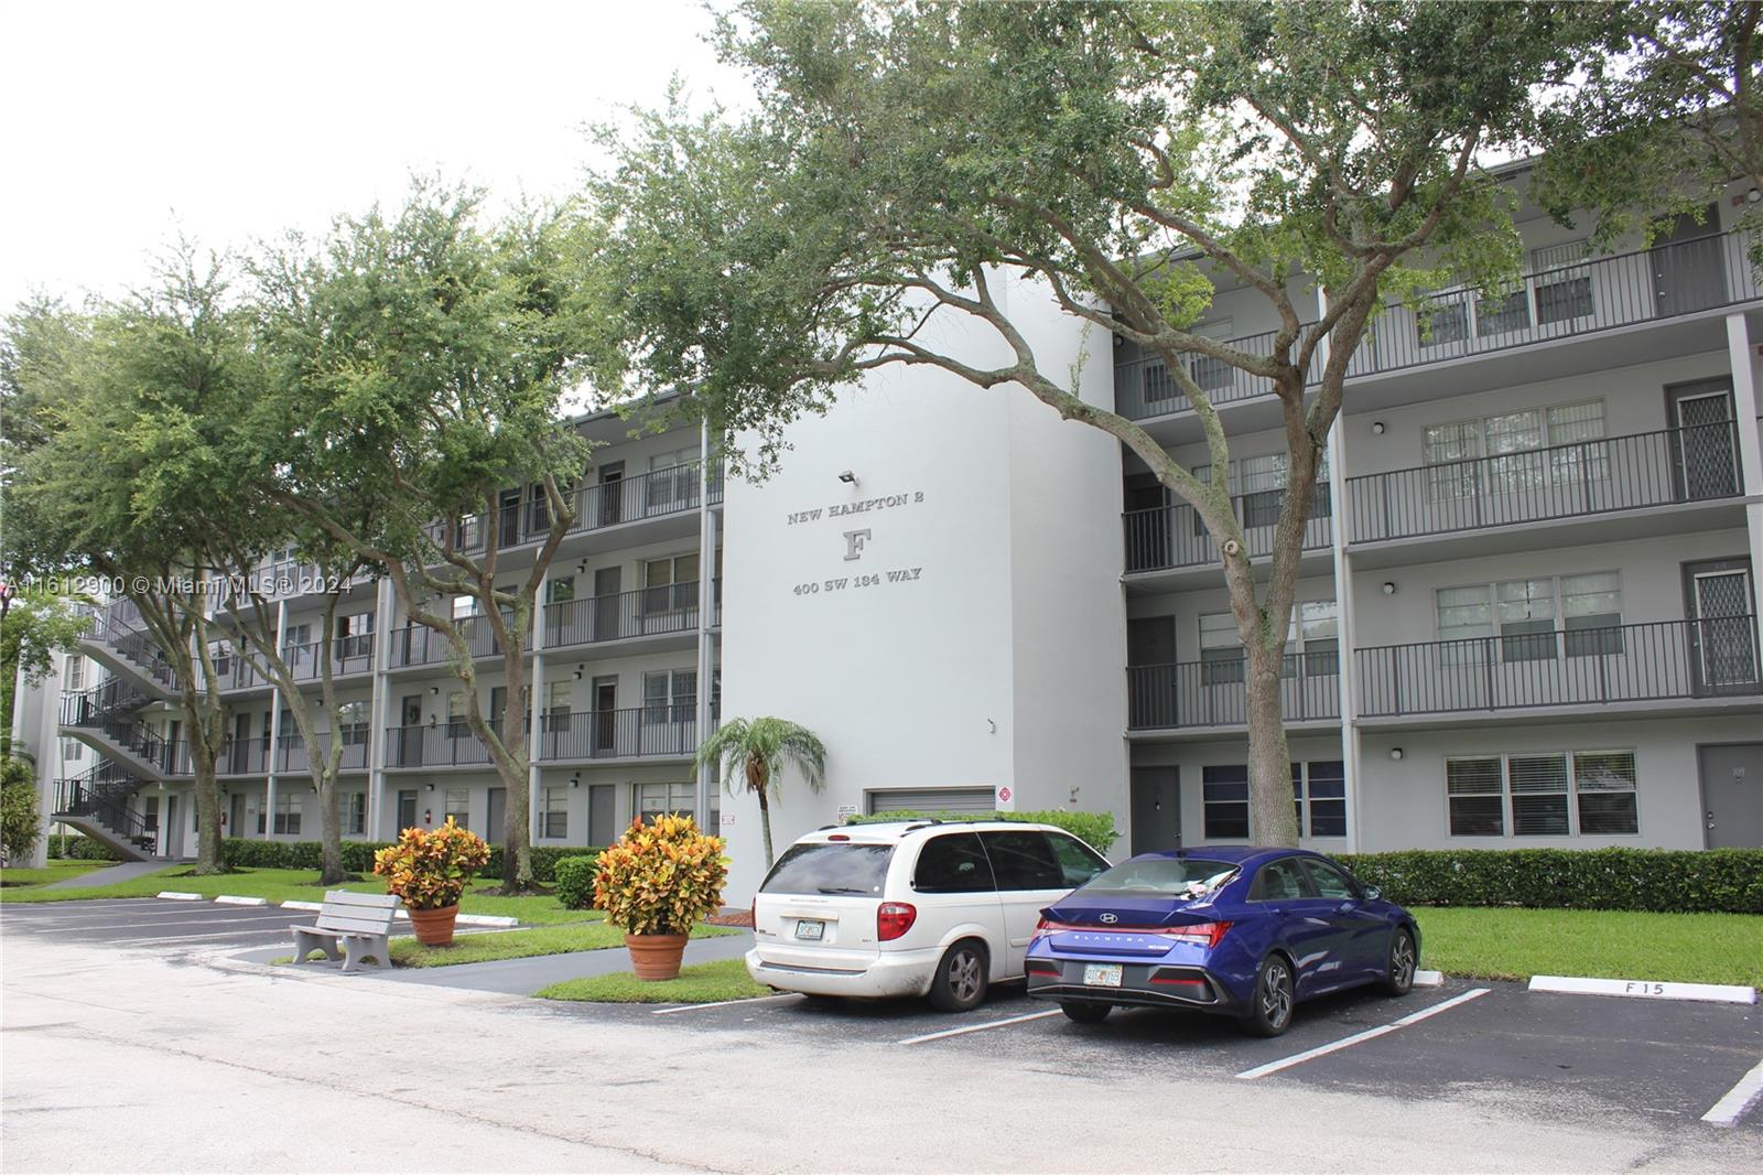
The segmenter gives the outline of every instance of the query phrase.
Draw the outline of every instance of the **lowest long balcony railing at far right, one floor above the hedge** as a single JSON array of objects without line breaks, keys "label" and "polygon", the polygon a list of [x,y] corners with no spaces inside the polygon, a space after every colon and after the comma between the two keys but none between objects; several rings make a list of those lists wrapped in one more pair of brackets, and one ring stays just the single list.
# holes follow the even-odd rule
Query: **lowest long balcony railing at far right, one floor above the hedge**
[{"label": "lowest long balcony railing at far right, one floor above the hedge", "polygon": [[1763,693],[1752,616],[1395,644],[1354,656],[1365,718]]}]

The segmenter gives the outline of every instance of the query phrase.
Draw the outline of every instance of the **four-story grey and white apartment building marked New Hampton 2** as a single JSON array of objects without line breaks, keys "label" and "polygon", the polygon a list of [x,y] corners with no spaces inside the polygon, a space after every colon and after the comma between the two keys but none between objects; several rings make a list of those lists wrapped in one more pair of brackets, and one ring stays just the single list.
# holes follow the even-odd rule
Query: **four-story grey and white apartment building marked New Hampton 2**
[{"label": "four-story grey and white apartment building marked New Hampton 2", "polygon": [[[1525,215],[1514,291],[1433,291],[1377,319],[1291,623],[1306,845],[1763,843],[1763,289],[1731,229],[1752,199],[1733,189],[1650,247],[1597,256]],[[1206,460],[1160,358],[1109,355],[1031,286],[1005,295],[1045,370]],[[1266,302],[1227,284],[1199,326],[1248,348],[1271,328]],[[1266,556],[1283,490],[1275,400],[1208,360],[1190,374],[1231,432],[1238,515]],[[1243,651],[1216,552],[1100,432],[1019,390],[882,370],[792,429],[777,476],[732,480],[723,503],[716,483],[700,498],[696,438],[584,427],[610,445],[547,593],[536,843],[601,843],[635,812],[702,803],[689,757],[718,706],[827,741],[827,789],[786,783],[779,842],[887,806],[1107,808],[1132,850],[1246,836]],[[524,508],[511,492],[495,524],[518,529]],[[439,651],[383,588],[353,600],[317,633],[316,603],[293,598],[284,630],[347,672],[346,831],[448,813],[497,829],[501,794]],[[42,739],[106,755],[99,778],[145,780],[130,812],[159,827],[159,852],[187,852],[166,707],[136,702],[134,745],[65,720],[111,715],[108,688],[155,695],[127,640],[104,628],[88,644],[125,686],[69,677],[69,699],[93,700],[65,700]],[[310,838],[298,736],[247,676],[227,697],[227,831]],[[725,796],[712,819],[744,896],[756,806]]]}]

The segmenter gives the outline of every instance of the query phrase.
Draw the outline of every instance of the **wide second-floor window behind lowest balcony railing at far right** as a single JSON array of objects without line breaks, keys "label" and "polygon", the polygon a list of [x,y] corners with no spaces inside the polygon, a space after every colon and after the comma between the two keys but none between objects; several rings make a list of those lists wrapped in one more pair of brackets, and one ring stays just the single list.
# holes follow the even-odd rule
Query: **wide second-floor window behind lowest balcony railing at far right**
[{"label": "wide second-floor window behind lowest balcony railing at far right", "polygon": [[[1502,662],[1546,662],[1567,656],[1615,655],[1624,649],[1622,580],[1617,572],[1558,579],[1513,579],[1497,584],[1440,588],[1433,593],[1440,663],[1479,663],[1486,637],[1499,635]],[[1555,616],[1564,637],[1557,637]],[[1495,633],[1495,625],[1499,632]]]}]

